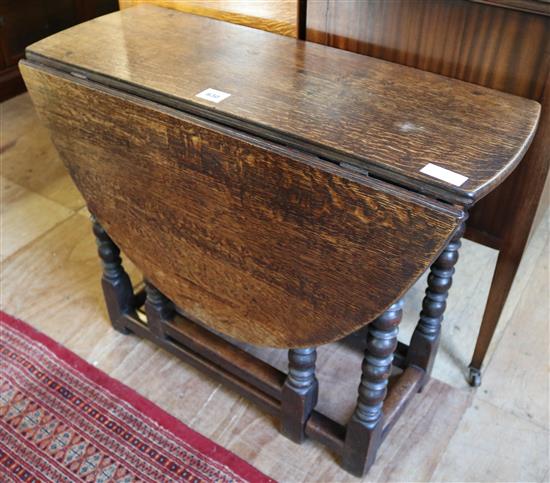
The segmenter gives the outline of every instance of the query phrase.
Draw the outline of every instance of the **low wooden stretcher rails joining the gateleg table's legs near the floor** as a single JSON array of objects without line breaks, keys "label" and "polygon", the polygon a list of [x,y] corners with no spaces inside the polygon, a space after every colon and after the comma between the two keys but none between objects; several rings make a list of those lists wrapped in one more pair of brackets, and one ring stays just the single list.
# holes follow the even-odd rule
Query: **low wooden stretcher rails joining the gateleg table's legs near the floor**
[{"label": "low wooden stretcher rails joining the gateleg table's legs near the floor", "polygon": [[[142,300],[144,292],[136,298]],[[223,382],[267,413],[278,417],[281,412],[282,388],[286,374],[266,362],[236,347],[219,335],[204,329],[197,323],[176,314],[163,324],[165,337],[157,337],[147,323],[131,314],[120,321],[122,326],[139,337],[150,339],[176,357]],[[400,344],[401,352],[407,346]],[[405,407],[418,392],[424,371],[408,367],[398,377],[392,378],[384,404],[385,438]],[[344,449],[345,426],[313,411],[306,423],[306,435],[341,455]]]}]

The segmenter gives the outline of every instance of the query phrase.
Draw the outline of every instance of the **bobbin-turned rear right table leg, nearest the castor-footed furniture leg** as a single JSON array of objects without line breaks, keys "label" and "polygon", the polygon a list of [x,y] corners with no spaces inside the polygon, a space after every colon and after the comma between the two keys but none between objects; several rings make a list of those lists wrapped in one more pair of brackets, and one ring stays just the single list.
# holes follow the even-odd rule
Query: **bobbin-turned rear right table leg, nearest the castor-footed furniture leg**
[{"label": "bobbin-turned rear right table leg, nearest the castor-footed furniture leg", "polygon": [[441,323],[447,306],[449,289],[453,282],[454,266],[458,261],[460,239],[464,234],[465,223],[456,232],[445,250],[430,268],[428,288],[422,301],[420,320],[411,338],[407,352],[407,365],[424,369],[425,376],[420,388],[428,382],[441,337]]}]

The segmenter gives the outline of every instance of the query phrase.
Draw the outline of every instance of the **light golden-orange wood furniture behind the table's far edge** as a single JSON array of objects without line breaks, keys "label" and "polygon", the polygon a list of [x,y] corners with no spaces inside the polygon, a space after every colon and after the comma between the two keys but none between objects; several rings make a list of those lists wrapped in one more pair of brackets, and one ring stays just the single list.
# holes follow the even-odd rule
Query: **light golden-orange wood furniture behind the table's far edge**
[{"label": "light golden-orange wood furniture behind the table's far edge", "polygon": [[144,3],[289,37],[297,33],[297,0],[119,0],[121,10]]}]

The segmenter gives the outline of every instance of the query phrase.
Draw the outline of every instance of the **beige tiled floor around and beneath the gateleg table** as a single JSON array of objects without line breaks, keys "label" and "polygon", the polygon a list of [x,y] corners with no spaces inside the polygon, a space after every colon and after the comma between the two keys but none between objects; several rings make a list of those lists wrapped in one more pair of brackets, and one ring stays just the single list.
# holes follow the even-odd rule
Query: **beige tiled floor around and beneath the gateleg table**
[{"label": "beige tiled floor around and beneath the gateleg table", "polygon": [[[28,96],[3,103],[1,115],[2,308],[278,480],[356,481],[324,448],[291,443],[274,420],[235,393],[110,328],[82,198]],[[547,215],[530,241],[477,391],[468,387],[465,367],[496,252],[464,242],[434,370],[438,380],[406,410],[366,481],[548,481],[548,233]],[[421,280],[406,298],[403,340],[423,291]],[[277,353],[270,359],[281,361]],[[341,346],[319,351],[321,409],[349,414],[359,359]]]}]

